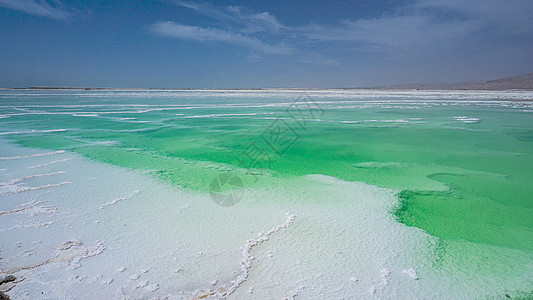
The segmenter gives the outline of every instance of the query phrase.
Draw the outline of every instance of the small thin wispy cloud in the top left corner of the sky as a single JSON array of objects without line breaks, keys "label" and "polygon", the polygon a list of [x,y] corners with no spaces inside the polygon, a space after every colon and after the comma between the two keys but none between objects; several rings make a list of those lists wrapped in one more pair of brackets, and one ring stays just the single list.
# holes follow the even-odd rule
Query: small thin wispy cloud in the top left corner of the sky
[{"label": "small thin wispy cloud in the top left corner of the sky", "polygon": [[23,11],[34,16],[61,21],[68,21],[72,18],[73,12],[67,10],[59,1],[54,3],[55,6],[50,5],[45,0],[0,0],[0,6]]}]

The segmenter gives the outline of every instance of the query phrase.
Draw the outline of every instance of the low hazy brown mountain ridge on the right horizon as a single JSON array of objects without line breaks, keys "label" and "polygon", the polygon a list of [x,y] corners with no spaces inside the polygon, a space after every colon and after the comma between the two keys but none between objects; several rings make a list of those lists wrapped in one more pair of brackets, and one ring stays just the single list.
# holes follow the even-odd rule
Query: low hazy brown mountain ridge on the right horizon
[{"label": "low hazy brown mountain ridge on the right horizon", "polygon": [[482,82],[398,84],[386,89],[420,90],[533,90],[533,73]]}]

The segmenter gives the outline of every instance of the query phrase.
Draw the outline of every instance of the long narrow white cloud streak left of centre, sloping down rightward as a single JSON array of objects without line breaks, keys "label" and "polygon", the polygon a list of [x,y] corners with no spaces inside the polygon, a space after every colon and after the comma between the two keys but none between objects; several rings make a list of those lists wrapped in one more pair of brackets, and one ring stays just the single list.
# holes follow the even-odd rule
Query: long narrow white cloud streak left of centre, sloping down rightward
[{"label": "long narrow white cloud streak left of centre, sloping down rightward", "polygon": [[218,28],[188,26],[174,22],[156,22],[150,26],[153,34],[182,40],[226,42],[267,54],[290,54],[292,49],[283,44],[269,45],[256,38]]}]

